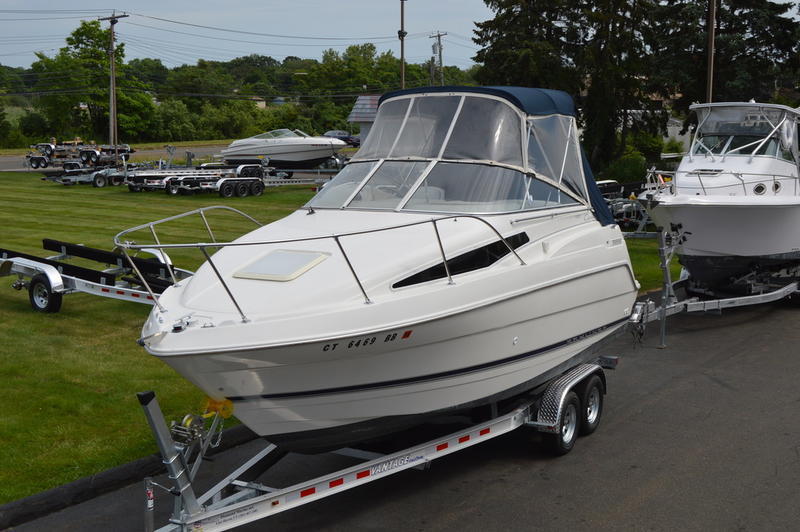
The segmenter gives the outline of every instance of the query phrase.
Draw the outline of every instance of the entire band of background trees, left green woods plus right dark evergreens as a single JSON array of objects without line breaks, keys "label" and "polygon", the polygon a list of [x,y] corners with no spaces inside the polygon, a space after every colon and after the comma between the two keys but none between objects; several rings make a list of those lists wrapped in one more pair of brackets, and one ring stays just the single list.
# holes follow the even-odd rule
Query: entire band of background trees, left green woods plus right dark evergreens
[{"label": "entire band of background trees, left green woods plus right dark evergreens", "polygon": [[[718,2],[713,100],[800,103],[800,8],[710,1]],[[667,119],[689,127],[689,105],[705,101],[708,0],[484,2],[494,16],[476,22],[477,65],[445,67],[446,83],[570,93],[597,170],[640,175],[665,149]],[[99,22],[82,22],[52,57],[37,54],[28,69],[0,65],[0,146],[54,134],[104,140],[109,39]],[[358,94],[400,87],[399,59],[372,44],[328,50],[320,60],[249,55],[168,68],[159,59],[125,61],[120,43],[116,60],[125,142],[239,138],[278,127],[349,130]],[[406,85],[431,84],[431,67],[407,65]],[[18,116],[7,117],[2,104]]]}]

